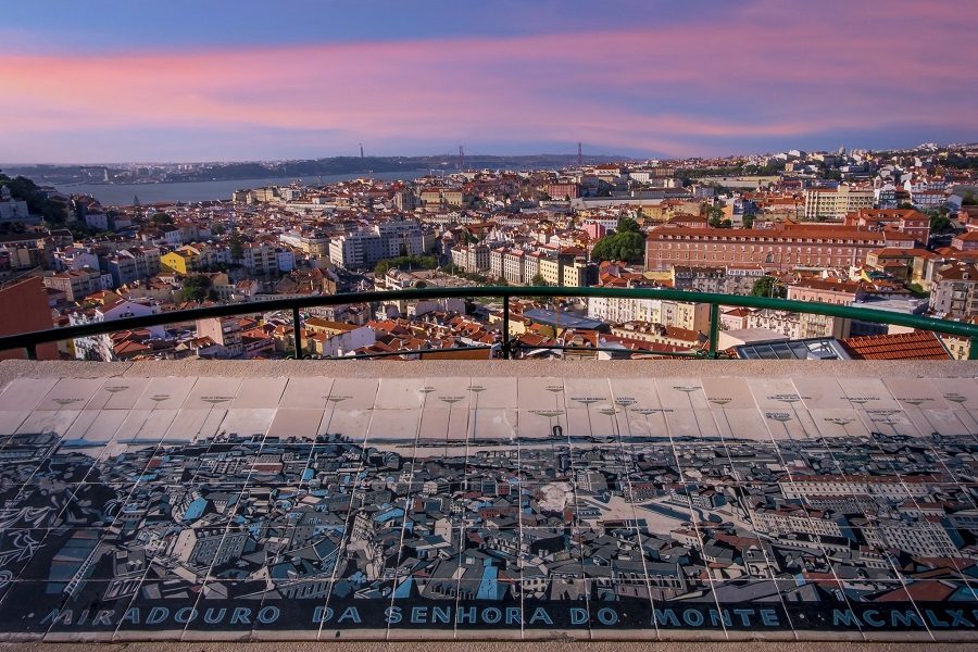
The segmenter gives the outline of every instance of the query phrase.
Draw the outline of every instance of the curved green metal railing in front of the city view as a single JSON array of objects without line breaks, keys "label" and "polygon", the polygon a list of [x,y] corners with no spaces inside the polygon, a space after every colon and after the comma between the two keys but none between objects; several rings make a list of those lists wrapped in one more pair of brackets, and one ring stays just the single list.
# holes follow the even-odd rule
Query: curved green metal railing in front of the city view
[{"label": "curved green metal railing in front of the city view", "polygon": [[[719,340],[719,309],[722,305],[732,308],[756,308],[772,309],[795,313],[808,313],[817,315],[826,315],[830,317],[840,317],[845,319],[857,319],[862,322],[872,322],[877,324],[892,324],[898,326],[906,326],[919,330],[931,330],[935,333],[943,333],[969,339],[969,359],[978,360],[978,326],[965,324],[962,322],[949,322],[944,319],[936,319],[933,317],[924,317],[920,315],[910,315],[889,311],[873,310],[867,308],[853,308],[850,305],[835,305],[830,303],[811,303],[806,301],[791,301],[787,299],[769,299],[767,297],[750,297],[739,294],[719,294],[716,292],[692,292],[686,290],[673,289],[651,289],[651,288],[568,288],[568,287],[464,287],[464,288],[423,288],[410,290],[393,291],[369,291],[356,292],[350,294],[326,294],[315,297],[296,297],[288,299],[275,299],[272,301],[255,301],[250,303],[231,303],[226,305],[214,305],[209,308],[198,308],[185,311],[164,312],[155,315],[145,315],[140,317],[126,317],[123,319],[114,319],[111,322],[99,322],[92,324],[82,324],[77,326],[68,326],[65,328],[51,328],[48,330],[35,330],[21,335],[12,335],[0,337],[0,351],[11,349],[24,349],[27,358],[37,359],[37,347],[39,344],[57,342],[67,339],[80,337],[89,337],[93,335],[104,335],[117,333],[121,330],[129,330],[135,328],[148,328],[150,326],[162,326],[165,324],[174,324],[177,322],[189,322],[193,319],[204,319],[210,317],[227,317],[235,315],[247,315],[275,311],[291,311],[292,324],[296,340],[296,351],[303,350],[301,339],[302,315],[300,311],[309,308],[324,308],[334,305],[346,305],[350,303],[374,303],[386,301],[422,301],[428,299],[475,299],[491,298],[503,300],[502,315],[502,356],[509,359],[515,351],[516,344],[510,339],[510,299],[519,297],[547,297],[553,299],[569,298],[607,298],[607,299],[666,299],[672,301],[685,301],[691,303],[709,303],[710,304],[710,334],[707,339],[707,348],[699,353],[695,352],[654,352],[656,355],[669,355],[677,358],[710,358],[715,359],[720,355],[718,350]],[[489,347],[463,347],[463,350],[487,349]],[[534,347],[535,349],[546,349],[548,347]],[[557,349],[574,349],[572,347],[555,347]],[[594,347],[582,348],[587,351],[616,351],[620,349],[602,349]],[[381,354],[362,354],[353,358],[379,358],[384,355],[405,355],[416,353],[438,353],[439,351],[449,351],[452,349],[431,349],[429,351],[398,351]],[[639,351],[640,352],[640,351]],[[346,356],[351,358],[351,356]]]}]

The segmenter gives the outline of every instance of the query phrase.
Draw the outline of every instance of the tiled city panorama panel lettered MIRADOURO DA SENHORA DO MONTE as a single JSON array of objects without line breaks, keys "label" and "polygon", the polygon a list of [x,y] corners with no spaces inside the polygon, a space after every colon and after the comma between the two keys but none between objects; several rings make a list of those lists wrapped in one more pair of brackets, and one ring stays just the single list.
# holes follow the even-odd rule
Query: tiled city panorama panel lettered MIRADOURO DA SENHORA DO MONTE
[{"label": "tiled city panorama panel lettered MIRADOURO DA SENHORA DO MONTE", "polygon": [[8,640],[978,628],[967,378],[20,378]]}]

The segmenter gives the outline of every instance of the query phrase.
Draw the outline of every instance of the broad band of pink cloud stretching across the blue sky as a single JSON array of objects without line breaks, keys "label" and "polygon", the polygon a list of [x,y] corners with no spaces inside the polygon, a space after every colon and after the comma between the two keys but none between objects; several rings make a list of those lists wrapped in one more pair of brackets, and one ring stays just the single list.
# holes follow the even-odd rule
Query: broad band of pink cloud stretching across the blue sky
[{"label": "broad band of pink cloud stretching across the blue sky", "polygon": [[[866,28],[785,13],[761,3],[732,24],[678,29],[7,54],[0,115],[8,129],[35,134],[310,129],[348,140],[584,139],[675,154],[703,137],[978,127],[967,90],[978,64],[974,15],[927,14],[942,29],[921,32],[890,14]],[[942,99],[967,92],[970,102]]]}]

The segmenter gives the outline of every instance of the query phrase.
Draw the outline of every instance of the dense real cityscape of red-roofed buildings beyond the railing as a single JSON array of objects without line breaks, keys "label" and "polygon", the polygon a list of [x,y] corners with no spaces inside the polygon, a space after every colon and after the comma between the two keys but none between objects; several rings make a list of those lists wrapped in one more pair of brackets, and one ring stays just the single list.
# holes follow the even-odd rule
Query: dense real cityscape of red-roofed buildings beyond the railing
[{"label": "dense real cityscape of red-roofed buildings beyond the railing", "polygon": [[[127,205],[0,177],[3,301],[23,325],[103,322],[225,302],[473,284],[672,288],[787,297],[970,322],[978,315],[978,150],[789,150],[681,161],[469,170],[246,188]],[[244,184],[244,183],[242,183]],[[10,297],[8,299],[7,297]],[[450,349],[636,358],[702,349],[705,303],[442,299],[311,309],[301,356]],[[967,338],[768,309],[727,309],[722,344],[820,342],[967,358]],[[48,358],[294,356],[291,314],[260,313],[68,340]],[[22,328],[23,329],[23,328]],[[8,328],[10,331],[10,328]],[[460,348],[472,351],[459,353]],[[601,349],[587,351],[586,349]],[[403,352],[403,354],[399,354]]]}]

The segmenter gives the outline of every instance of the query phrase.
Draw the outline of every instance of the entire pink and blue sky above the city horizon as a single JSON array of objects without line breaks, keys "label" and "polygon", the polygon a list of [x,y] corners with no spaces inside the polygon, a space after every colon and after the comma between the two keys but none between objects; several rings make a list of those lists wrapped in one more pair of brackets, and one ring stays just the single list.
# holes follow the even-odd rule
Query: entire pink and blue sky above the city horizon
[{"label": "entire pink and blue sky above the city horizon", "polygon": [[978,140],[974,0],[0,0],[0,161]]}]

